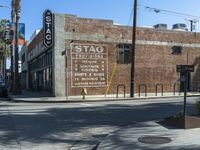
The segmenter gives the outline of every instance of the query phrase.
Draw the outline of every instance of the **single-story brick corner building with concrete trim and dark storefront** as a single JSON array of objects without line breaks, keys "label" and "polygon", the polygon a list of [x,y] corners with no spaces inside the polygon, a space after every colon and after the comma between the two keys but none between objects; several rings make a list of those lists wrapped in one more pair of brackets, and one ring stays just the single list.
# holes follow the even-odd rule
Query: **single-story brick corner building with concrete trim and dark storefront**
[{"label": "single-story brick corner building with concrete trim and dark storefront", "polygon": [[[44,30],[28,45],[29,88],[54,96],[116,94],[117,85],[130,92],[132,28],[111,20],[54,14],[54,44],[43,44]],[[200,83],[200,34],[154,28],[137,28],[135,50],[135,92],[173,92],[182,76],[178,64],[195,64],[188,89]],[[176,84],[176,90],[183,87]],[[158,86],[158,91],[161,88]]]}]

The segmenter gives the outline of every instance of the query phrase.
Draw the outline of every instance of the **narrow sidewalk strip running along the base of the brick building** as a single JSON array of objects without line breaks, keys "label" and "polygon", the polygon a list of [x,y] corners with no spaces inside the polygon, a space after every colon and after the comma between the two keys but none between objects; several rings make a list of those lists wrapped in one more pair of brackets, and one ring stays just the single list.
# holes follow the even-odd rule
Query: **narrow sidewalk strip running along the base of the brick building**
[{"label": "narrow sidewalk strip running along the base of the brick building", "polygon": [[[117,101],[117,100],[145,100],[145,99],[159,99],[159,98],[173,98],[183,96],[183,93],[158,93],[155,96],[155,93],[147,93],[145,96],[144,93],[141,93],[139,96],[137,93],[134,98],[130,97],[129,94],[126,94],[125,98],[123,94],[119,94],[118,98],[116,95],[86,95],[86,98],[83,99],[81,95],[79,96],[69,96],[69,97],[53,97],[50,93],[47,92],[30,92],[23,91],[21,95],[11,95],[9,94],[9,99],[14,102],[95,102],[95,101]],[[200,96],[200,93],[188,93],[188,97]]]}]

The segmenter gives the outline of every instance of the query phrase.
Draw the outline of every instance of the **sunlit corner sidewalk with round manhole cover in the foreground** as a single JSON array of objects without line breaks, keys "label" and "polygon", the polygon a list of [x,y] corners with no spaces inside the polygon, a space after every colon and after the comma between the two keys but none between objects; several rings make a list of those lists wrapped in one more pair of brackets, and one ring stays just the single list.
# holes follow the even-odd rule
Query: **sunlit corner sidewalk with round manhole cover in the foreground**
[{"label": "sunlit corner sidewalk with round manhole cover in the foreground", "polygon": [[199,150],[200,128],[165,128],[155,121],[134,124],[107,136],[97,150]]}]

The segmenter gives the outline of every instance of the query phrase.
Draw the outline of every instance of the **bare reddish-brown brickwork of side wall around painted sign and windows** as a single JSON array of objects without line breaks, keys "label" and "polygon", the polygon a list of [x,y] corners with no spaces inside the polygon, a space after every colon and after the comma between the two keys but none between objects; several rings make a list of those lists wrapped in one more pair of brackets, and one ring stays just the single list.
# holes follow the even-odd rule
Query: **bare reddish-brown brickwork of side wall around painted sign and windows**
[{"label": "bare reddish-brown brickwork of side wall around painted sign and windows", "polygon": [[[106,20],[93,20],[84,18],[66,18],[66,32],[87,33],[87,34],[100,34],[105,38],[115,41],[120,39],[131,40],[132,29],[130,27],[115,26],[112,21]],[[138,28],[137,40],[144,41],[159,41],[169,43],[186,43],[198,44],[200,43],[199,33],[178,32],[178,31],[161,31],[156,29]],[[102,41],[74,41],[78,43],[93,43],[105,44],[108,48],[108,76],[112,73],[112,68],[117,62],[117,49],[118,43],[102,42]],[[66,43],[68,41],[66,40]],[[68,44],[66,44],[68,47]],[[136,45],[136,59],[135,59],[135,92],[138,92],[139,84],[146,84],[148,92],[155,92],[155,85],[160,83],[164,86],[164,92],[172,92],[174,83],[178,80],[179,74],[176,72],[177,64],[196,63],[195,72],[191,77],[191,90],[197,91],[200,83],[200,48],[183,47],[182,54],[172,55],[172,46],[163,45]],[[67,57],[67,69],[71,70],[70,66],[70,52]],[[130,64],[117,64],[115,74],[110,86],[109,94],[116,93],[118,84],[126,85],[126,93],[129,93],[130,86]],[[67,93],[68,95],[80,94],[82,88],[71,88],[71,78],[67,75]],[[88,94],[105,94],[107,87],[87,88]],[[144,89],[142,89],[144,91]],[[160,91],[160,89],[159,89]]]}]

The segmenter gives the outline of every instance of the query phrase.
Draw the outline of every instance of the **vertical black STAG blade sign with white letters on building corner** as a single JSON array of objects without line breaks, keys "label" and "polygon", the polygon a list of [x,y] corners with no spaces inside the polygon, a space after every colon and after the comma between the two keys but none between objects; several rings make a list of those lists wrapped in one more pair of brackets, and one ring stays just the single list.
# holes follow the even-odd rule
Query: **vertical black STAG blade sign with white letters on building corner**
[{"label": "vertical black STAG blade sign with white letters on building corner", "polygon": [[44,28],[44,45],[51,47],[53,45],[53,13],[46,10],[43,14],[43,28]]}]

